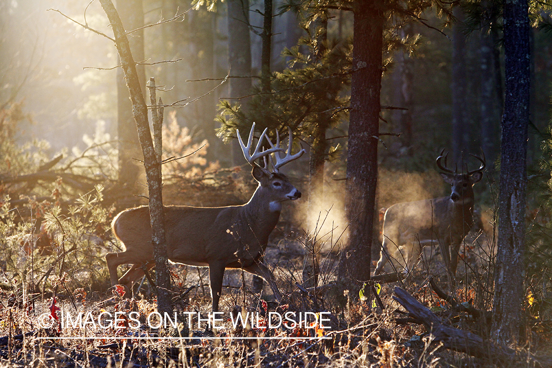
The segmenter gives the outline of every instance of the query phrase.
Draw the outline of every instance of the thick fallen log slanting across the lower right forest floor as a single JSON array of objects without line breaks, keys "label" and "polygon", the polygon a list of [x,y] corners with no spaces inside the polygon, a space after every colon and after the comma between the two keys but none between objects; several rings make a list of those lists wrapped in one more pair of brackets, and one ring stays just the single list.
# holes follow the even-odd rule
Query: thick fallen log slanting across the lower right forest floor
[{"label": "thick fallen log slanting across the lower right forest floor", "polygon": [[552,357],[550,356],[536,358],[531,354],[522,354],[521,351],[498,345],[479,335],[448,326],[406,290],[397,286],[394,292],[393,298],[405,307],[413,318],[422,321],[434,340],[442,342],[447,349],[466,353],[502,367],[517,366],[517,364],[527,365],[528,363],[542,367],[552,366]]}]

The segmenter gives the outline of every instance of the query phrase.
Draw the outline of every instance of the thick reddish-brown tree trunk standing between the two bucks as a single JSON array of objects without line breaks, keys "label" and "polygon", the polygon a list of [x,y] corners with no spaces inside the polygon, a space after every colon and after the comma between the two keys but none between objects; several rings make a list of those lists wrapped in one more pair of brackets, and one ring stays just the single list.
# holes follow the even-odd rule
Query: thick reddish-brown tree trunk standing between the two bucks
[{"label": "thick reddish-brown tree trunk standing between the two bucks", "polygon": [[378,178],[384,6],[381,0],[358,0],[354,5],[346,199],[349,242],[339,269],[344,281],[363,282],[370,279]]}]

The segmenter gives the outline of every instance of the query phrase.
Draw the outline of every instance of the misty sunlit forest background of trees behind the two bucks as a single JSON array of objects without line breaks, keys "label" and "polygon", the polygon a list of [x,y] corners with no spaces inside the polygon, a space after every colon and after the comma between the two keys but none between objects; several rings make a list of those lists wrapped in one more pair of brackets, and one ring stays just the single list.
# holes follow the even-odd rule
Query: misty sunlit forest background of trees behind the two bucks
[{"label": "misty sunlit forest background of trees behind the two bucks", "polygon": [[[310,150],[309,157],[305,155],[286,172],[307,198],[302,205],[286,208],[284,223],[309,234],[319,226],[320,214],[329,211],[326,225],[331,223],[330,228],[341,233],[347,227],[343,193],[351,75],[355,72],[354,15],[342,2],[317,7],[310,2],[275,1],[267,61],[267,50],[263,51],[263,45],[267,47],[266,38],[263,44],[266,4],[118,2],[123,23],[131,24],[128,29],[175,18],[130,35],[135,60],[141,64],[142,88],[146,78],[155,77],[161,86],[158,95],[167,104],[163,156],[182,157],[199,149],[189,158],[164,166],[164,201],[201,206],[243,203],[251,193],[251,183],[247,169],[242,177],[235,175],[240,172],[236,167],[243,165],[232,139],[236,127],[246,131],[256,121],[262,128],[285,132],[290,126]],[[464,161],[471,165],[468,153],[482,151],[487,170],[484,183],[475,187],[477,212],[494,234],[505,101],[502,6],[473,1],[436,2],[415,10],[398,3],[396,7],[390,7],[393,11],[383,25],[375,209],[446,195],[434,165],[439,152],[450,150],[450,162],[463,167]],[[552,279],[546,245],[552,164],[549,7],[546,2],[534,2],[528,14],[524,289],[538,295],[540,305],[550,300]],[[60,10],[65,16],[47,9]],[[95,2],[83,7],[66,1],[2,1],[0,10],[0,194],[7,259],[3,268],[17,269],[18,252],[12,247],[15,235],[39,234],[40,226],[29,224],[43,218],[50,223],[44,231],[57,227],[59,232],[59,218],[67,211],[78,212],[75,218],[82,221],[71,224],[75,231],[62,232],[64,239],[75,237],[65,239],[64,247],[79,244],[73,253],[78,253],[75,263],[80,264],[82,259],[93,258],[81,248],[82,242],[98,249],[114,247],[110,219],[119,210],[144,204],[136,195],[147,194],[144,174],[135,159],[141,157],[128,90],[116,67],[119,60],[113,42],[82,26],[108,33],[108,20]],[[246,13],[249,24],[244,20]],[[232,52],[243,52],[235,49],[236,39],[250,50],[251,62],[233,56]],[[95,206],[99,202],[102,211]],[[374,217],[378,232],[378,216]],[[101,246],[94,243],[97,239]],[[372,248],[376,252],[377,247]],[[107,289],[102,268],[103,264],[65,266],[73,270],[74,286],[90,291]],[[62,274],[61,266],[57,271]],[[41,282],[46,284],[40,280],[37,286]]]}]

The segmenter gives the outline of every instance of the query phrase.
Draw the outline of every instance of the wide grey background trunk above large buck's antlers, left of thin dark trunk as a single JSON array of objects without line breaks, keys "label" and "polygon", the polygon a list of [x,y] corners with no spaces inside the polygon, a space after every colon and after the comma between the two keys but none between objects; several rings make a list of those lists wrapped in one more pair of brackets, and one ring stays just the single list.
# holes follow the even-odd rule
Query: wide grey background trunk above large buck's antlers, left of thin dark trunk
[{"label": "wide grey background trunk above large buck's antlers, left of thin dark trunk", "polygon": [[[227,0],[228,65],[230,76],[251,76],[251,37],[249,33],[249,0]],[[251,91],[251,78],[230,78],[230,97],[243,97]],[[241,100],[245,109],[247,100]],[[232,140],[232,165],[243,163],[237,140]]]}]

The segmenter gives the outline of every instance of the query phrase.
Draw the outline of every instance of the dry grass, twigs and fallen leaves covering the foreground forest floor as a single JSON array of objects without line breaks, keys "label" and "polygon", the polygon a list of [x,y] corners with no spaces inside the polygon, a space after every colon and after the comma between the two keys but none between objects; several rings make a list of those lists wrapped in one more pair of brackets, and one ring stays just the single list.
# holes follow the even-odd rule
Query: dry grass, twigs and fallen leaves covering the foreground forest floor
[{"label": "dry grass, twigs and fallen leaves covering the foreground forest floor", "polygon": [[[317,256],[321,269],[317,294],[300,291],[297,284],[301,284],[308,254],[304,244],[299,232],[288,232],[276,234],[267,248],[267,259],[275,265],[286,305],[276,303],[267,286],[262,294],[253,294],[251,275],[230,270],[224,280],[222,313],[215,316],[219,318],[216,321],[211,319],[212,328],[206,269],[173,268],[176,314],[169,316],[164,326],[156,314],[155,295],[147,281],[129,299],[117,290],[71,290],[63,280],[57,282],[55,294],[24,292],[17,286],[21,283],[15,276],[4,273],[2,284],[14,287],[0,290],[0,367],[497,366],[492,356],[474,358],[445,349],[423,321],[405,312],[394,298],[394,288],[400,286],[442,323],[488,339],[488,323],[445,302],[429,283],[432,275],[431,279],[458,305],[468,303],[482,311],[490,310],[492,296],[480,282],[484,265],[477,262],[477,257],[482,259],[482,254],[491,252],[486,244],[470,249],[480,249],[480,253],[465,258],[469,262],[460,267],[454,290],[444,276],[439,277],[440,255],[426,249],[426,266],[416,277],[375,284],[380,289],[379,300],[366,288],[365,301],[355,297],[358,290],[343,293],[333,287],[337,281],[338,252],[331,247],[322,249]],[[477,280],[475,270],[479,272]],[[287,326],[275,327],[281,322],[279,316],[291,311],[303,312],[303,316],[304,312],[311,312],[307,313],[310,319],[292,326],[291,319],[300,322],[300,318],[295,318],[298,314],[294,314]],[[238,314],[254,317],[244,325],[236,323],[240,321]],[[276,319],[268,321],[270,316]],[[175,320],[176,326],[172,323]],[[159,324],[161,328],[157,328]],[[552,326],[527,326],[526,349],[550,354]]]}]

